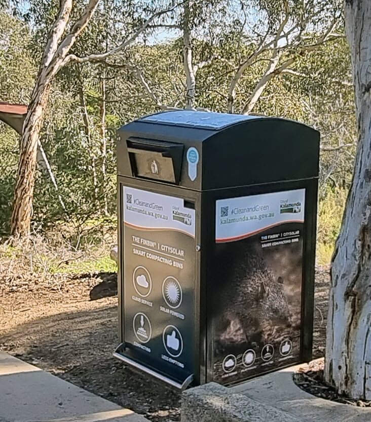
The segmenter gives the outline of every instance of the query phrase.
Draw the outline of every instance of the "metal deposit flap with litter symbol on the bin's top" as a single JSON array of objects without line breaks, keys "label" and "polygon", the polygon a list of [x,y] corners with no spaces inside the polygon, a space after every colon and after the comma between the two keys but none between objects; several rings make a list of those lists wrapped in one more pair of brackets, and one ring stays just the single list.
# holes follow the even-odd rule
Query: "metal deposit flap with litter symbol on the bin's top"
[{"label": "metal deposit flap with litter symbol on the bin's top", "polygon": [[182,144],[129,138],[127,147],[134,177],[179,184]]}]

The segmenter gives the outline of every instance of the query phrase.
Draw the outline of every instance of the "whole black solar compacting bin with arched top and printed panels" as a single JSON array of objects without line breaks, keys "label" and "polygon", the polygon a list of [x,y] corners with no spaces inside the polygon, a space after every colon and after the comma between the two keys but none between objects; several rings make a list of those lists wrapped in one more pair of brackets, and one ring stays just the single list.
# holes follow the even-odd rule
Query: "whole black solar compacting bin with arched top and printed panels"
[{"label": "whole black solar compacting bin with arched top and printed panels", "polygon": [[319,133],[200,111],[119,133],[115,356],[177,388],[310,360]]}]

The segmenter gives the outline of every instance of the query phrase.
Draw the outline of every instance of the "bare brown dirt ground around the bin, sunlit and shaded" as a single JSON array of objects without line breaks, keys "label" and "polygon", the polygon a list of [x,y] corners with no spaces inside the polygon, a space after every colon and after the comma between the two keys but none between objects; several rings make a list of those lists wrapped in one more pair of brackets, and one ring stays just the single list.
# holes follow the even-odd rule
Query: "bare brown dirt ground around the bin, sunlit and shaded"
[{"label": "bare brown dirt ground around the bin, sunlit and shaded", "polygon": [[[0,268],[0,349],[155,422],[179,420],[178,393],[112,357],[117,297],[90,300],[89,292],[113,278],[100,273],[4,280]],[[317,268],[314,358],[324,354],[328,283],[328,268]]]}]

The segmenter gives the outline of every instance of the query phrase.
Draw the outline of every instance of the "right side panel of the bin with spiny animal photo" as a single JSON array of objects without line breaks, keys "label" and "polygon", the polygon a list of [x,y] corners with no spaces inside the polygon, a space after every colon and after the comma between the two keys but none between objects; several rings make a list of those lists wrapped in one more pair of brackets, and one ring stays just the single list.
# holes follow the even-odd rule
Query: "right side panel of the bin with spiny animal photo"
[{"label": "right side panel of the bin with spiny animal photo", "polygon": [[219,383],[300,361],[305,193],[216,201],[212,374]]}]

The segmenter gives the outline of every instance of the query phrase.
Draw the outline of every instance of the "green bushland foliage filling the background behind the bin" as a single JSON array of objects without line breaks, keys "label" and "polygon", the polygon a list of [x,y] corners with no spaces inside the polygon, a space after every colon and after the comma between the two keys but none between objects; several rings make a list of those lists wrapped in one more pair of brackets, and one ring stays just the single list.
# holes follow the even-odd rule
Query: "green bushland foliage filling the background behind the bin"
[{"label": "green bushland foliage filling the background behind the bin", "polygon": [[[164,3],[102,1],[88,30],[73,47],[73,54],[102,53],[118,45]],[[308,26],[306,45],[314,43],[317,31],[323,30],[333,15],[339,13],[340,3],[340,0],[326,4],[317,0],[306,2],[307,9],[321,10],[314,14]],[[74,2],[73,19],[79,16],[84,4],[82,0]],[[23,21],[0,12],[0,101],[28,102],[58,5],[54,0],[31,0]],[[290,23],[299,22],[308,13],[301,1],[289,0],[289,5]],[[193,61],[198,67],[197,106],[226,111],[230,82],[236,69],[262,41],[257,30],[262,33],[266,30],[267,37],[272,37],[285,13],[283,6],[284,2],[278,0],[193,2],[190,28]],[[181,10],[161,22],[181,25]],[[149,29],[136,44],[107,60],[109,64],[69,63],[58,73],[41,134],[58,192],[49,175],[39,169],[33,204],[36,232],[61,221],[82,227],[102,216],[115,215],[116,130],[143,114],[158,111],[158,104],[184,107],[181,31],[174,29],[171,32],[174,36],[162,42],[156,41],[154,34],[155,29]],[[335,40],[314,51],[304,54],[300,45],[295,48],[299,50],[291,66],[293,72],[276,75],[253,112],[299,120],[321,132],[324,150],[318,250],[320,259],[325,262],[338,235],[355,154],[350,56],[340,32]],[[285,51],[281,59],[290,57],[291,53]],[[236,110],[243,109],[261,80],[270,55],[271,51],[267,50],[244,71],[236,85]],[[151,92],[139,81],[139,72]],[[343,147],[344,144],[351,145]],[[0,125],[0,233],[8,230],[17,160],[18,136]],[[106,265],[103,261],[99,264],[102,268]]]}]

